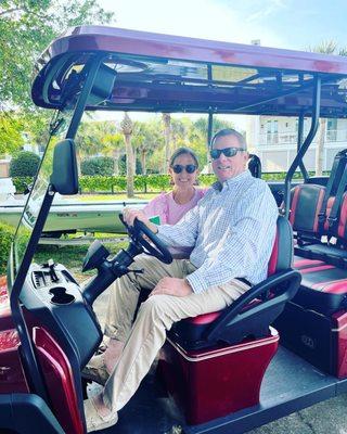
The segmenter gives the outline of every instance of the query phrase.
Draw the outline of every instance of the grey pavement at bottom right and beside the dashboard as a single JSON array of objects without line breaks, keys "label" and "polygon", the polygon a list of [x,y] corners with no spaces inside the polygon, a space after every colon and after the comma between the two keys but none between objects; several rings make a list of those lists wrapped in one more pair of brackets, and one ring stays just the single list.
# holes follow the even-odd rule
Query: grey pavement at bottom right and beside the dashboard
[{"label": "grey pavement at bottom right and beside the dashboard", "polygon": [[[94,303],[94,310],[104,324],[108,293],[105,291]],[[347,394],[292,413],[249,434],[347,434]],[[150,433],[149,433],[150,434]],[[232,433],[230,433],[232,434]]]}]

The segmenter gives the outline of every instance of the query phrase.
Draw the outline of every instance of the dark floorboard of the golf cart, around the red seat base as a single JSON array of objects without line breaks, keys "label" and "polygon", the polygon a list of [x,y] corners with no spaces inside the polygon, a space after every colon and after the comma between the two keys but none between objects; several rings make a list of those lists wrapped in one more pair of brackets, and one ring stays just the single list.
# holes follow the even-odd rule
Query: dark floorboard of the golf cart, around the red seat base
[{"label": "dark floorboard of the golf cart, around the red seat base", "polygon": [[[347,379],[327,375],[280,347],[265,375],[258,406],[200,425],[187,425],[174,400],[151,372],[129,404],[119,411],[118,423],[100,433],[241,434],[344,392],[347,392]],[[172,426],[181,426],[182,431],[172,430]]]}]

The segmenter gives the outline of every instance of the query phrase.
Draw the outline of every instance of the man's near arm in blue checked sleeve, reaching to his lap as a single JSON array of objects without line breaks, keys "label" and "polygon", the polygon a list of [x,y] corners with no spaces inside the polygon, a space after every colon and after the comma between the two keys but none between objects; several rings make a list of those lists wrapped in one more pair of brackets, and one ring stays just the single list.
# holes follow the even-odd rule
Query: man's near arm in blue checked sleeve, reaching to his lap
[{"label": "man's near arm in blue checked sleeve, reaching to his lap", "polygon": [[[237,205],[240,219],[221,233],[221,240],[204,264],[187,280],[195,293],[266,267],[275,235],[278,209],[269,190],[255,191]],[[269,257],[262,257],[267,248]]]}]

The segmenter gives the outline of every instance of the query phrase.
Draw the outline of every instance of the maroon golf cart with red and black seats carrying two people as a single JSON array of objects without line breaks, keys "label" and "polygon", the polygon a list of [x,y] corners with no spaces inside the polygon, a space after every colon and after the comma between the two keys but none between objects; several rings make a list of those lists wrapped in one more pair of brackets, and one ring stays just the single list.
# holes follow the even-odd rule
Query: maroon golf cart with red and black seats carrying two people
[{"label": "maroon golf cart with red and black seats carrying two people", "polygon": [[[126,253],[90,246],[83,269],[98,275],[86,288],[62,264],[33,264],[54,194],[78,191],[74,138],[88,110],[206,113],[209,138],[214,114],[299,119],[285,182],[270,184],[283,205],[269,277],[222,312],[178,322],[158,366],[169,394],[144,381],[108,432],[237,434],[346,392],[346,158],[330,178],[309,178],[304,165],[319,117],[347,115],[346,79],[347,58],[110,27],[76,27],[51,43],[33,84],[34,102],[55,110],[51,140],[0,293],[2,432],[86,432],[80,372],[102,339],[92,304],[143,248],[170,260],[137,225]],[[304,183],[291,193],[298,167]]]}]

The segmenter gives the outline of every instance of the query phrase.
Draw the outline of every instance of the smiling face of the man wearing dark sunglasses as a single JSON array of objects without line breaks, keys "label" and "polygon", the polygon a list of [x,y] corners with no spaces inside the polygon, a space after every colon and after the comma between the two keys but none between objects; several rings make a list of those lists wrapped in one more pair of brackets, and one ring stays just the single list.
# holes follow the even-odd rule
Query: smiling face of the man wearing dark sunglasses
[{"label": "smiling face of the man wearing dark sunglasses", "polygon": [[[226,148],[242,148],[235,136],[219,137],[214,149],[222,150]],[[223,153],[217,159],[213,159],[214,171],[220,182],[234,178],[246,169],[248,153],[246,151],[236,152],[234,156],[226,156]]]}]

